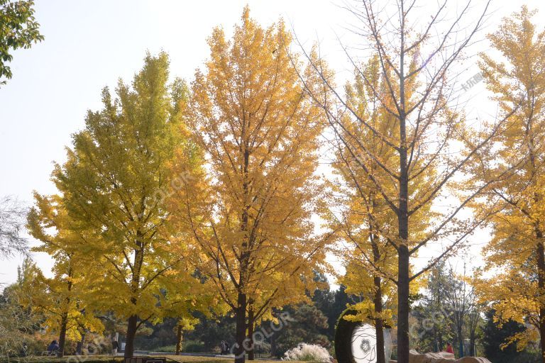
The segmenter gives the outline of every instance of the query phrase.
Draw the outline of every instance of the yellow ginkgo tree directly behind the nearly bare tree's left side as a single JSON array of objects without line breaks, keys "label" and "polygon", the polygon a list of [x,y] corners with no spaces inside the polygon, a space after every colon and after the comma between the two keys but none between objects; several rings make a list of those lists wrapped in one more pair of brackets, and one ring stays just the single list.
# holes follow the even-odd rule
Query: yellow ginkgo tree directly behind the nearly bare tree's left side
[{"label": "yellow ginkgo tree directly behind the nearly bare tree's left side", "polygon": [[[365,84],[359,71],[365,72],[370,84]],[[395,119],[381,106],[373,89],[384,94],[385,79],[381,77],[378,57],[375,57],[354,74],[354,81],[346,84],[346,101],[358,112],[359,117],[368,118],[368,123],[383,133],[395,134]],[[342,116],[341,116],[342,117]],[[384,325],[391,325],[395,291],[395,250],[388,239],[395,223],[395,214],[380,199],[376,188],[363,174],[362,166],[375,180],[388,179],[380,165],[365,157],[365,150],[375,150],[380,160],[391,162],[392,150],[380,138],[376,138],[358,122],[346,118],[346,130],[342,138],[354,135],[350,147],[334,135],[331,145],[335,151],[332,163],[335,178],[331,182],[332,195],[329,208],[324,208],[331,230],[336,230],[340,239],[339,255],[346,266],[341,279],[348,294],[355,294],[362,301],[352,306],[357,315],[348,318],[366,321],[375,325],[377,336],[377,362],[385,362]],[[336,136],[336,137],[335,137]]]}]

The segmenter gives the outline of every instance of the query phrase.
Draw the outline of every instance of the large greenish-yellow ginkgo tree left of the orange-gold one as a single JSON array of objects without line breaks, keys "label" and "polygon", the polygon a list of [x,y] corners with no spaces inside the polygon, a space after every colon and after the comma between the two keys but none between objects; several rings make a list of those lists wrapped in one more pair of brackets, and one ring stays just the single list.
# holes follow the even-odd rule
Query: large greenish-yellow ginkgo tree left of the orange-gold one
[{"label": "large greenish-yellow ginkgo tree left of the orange-gold one", "polygon": [[143,323],[160,321],[169,303],[194,302],[171,299],[189,294],[193,279],[181,263],[187,245],[173,243],[165,224],[165,199],[185,178],[171,172],[175,150],[191,154],[182,123],[187,86],[169,84],[168,65],[164,52],[148,54],[131,85],[119,81],[116,98],[105,88],[103,108],[88,111],[67,162],[53,171],[58,203],[86,236],[78,248],[93,259],[87,271],[97,272],[97,308],[127,319],[128,357]]}]

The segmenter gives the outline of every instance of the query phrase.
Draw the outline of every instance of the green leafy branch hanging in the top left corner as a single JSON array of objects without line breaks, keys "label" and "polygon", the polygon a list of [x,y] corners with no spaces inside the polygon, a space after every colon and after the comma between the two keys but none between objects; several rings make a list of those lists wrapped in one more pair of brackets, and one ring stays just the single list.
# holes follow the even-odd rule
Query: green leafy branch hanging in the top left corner
[{"label": "green leafy branch hanging in the top left corner", "polygon": [[[13,60],[11,50],[31,48],[43,40],[34,18],[34,1],[0,0],[0,79],[10,79],[11,68],[6,63]],[[6,80],[0,85],[6,84]]]}]

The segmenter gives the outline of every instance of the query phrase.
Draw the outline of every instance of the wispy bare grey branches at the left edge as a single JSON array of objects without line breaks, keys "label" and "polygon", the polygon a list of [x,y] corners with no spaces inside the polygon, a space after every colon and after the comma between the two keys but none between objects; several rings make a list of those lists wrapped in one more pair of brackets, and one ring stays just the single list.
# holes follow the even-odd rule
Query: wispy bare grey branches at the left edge
[{"label": "wispy bare grey branches at the left edge", "polygon": [[0,199],[0,259],[26,254],[27,240],[21,235],[26,213],[27,209],[12,196]]}]

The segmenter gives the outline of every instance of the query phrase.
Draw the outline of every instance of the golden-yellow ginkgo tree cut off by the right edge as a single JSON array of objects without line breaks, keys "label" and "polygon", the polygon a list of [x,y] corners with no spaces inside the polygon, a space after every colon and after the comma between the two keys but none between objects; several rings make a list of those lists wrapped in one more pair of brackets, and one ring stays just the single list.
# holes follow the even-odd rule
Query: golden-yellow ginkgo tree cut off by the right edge
[{"label": "golden-yellow ginkgo tree cut off by the right edge", "polygon": [[475,175],[484,181],[504,172],[514,157],[522,162],[508,179],[493,184],[484,203],[502,203],[502,211],[491,217],[492,240],[484,249],[492,279],[477,285],[483,301],[494,303],[495,319],[529,323],[510,337],[519,346],[541,339],[545,362],[545,31],[532,23],[535,11],[525,6],[488,39],[492,53],[481,54],[480,66],[493,99],[503,113],[523,99],[505,125],[493,154],[483,152]]}]

